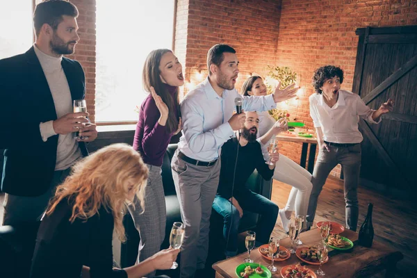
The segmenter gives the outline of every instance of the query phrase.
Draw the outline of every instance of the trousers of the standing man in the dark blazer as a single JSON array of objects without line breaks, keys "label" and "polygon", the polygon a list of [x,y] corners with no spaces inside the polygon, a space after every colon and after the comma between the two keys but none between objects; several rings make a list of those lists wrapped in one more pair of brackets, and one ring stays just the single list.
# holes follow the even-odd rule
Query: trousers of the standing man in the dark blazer
[{"label": "trousers of the standing man in the dark blazer", "polygon": [[3,202],[3,225],[17,225],[35,222],[42,218],[49,199],[55,195],[56,186],[70,174],[71,168],[54,172],[49,189],[36,197],[25,197],[6,194]]}]

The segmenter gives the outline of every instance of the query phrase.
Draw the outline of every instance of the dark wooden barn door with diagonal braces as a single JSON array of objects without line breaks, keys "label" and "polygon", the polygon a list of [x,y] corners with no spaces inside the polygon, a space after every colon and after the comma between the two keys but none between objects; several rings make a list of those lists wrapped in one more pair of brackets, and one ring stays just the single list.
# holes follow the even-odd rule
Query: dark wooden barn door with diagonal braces
[{"label": "dark wooden barn door with diagonal braces", "polygon": [[361,120],[361,178],[386,190],[417,193],[417,26],[358,28],[353,92],[377,109],[395,101],[380,124]]}]

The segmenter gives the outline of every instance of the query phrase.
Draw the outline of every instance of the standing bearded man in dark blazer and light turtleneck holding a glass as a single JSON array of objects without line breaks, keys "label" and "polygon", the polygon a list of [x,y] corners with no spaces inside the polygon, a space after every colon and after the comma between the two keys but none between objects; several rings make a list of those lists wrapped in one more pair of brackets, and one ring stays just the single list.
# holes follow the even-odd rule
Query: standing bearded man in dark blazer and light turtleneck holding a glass
[{"label": "standing bearded man in dark blazer and light turtleneck holding a glass", "polygon": [[[72,113],[72,101],[85,96],[83,68],[63,57],[79,40],[78,14],[67,1],[38,4],[33,47],[0,60],[3,224],[39,220],[56,185],[88,155],[85,142],[97,138],[88,113]],[[75,138],[76,131],[83,140]]]}]

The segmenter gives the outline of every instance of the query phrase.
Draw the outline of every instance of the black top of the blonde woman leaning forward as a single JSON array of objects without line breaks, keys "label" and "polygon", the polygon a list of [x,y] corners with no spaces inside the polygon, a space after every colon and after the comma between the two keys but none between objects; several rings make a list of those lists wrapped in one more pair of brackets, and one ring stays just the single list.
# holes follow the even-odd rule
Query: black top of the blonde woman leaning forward
[{"label": "black top of the blonde woman leaning forward", "polygon": [[113,270],[113,227],[111,212],[99,213],[87,221],[69,219],[72,206],[67,199],[40,224],[31,278],[79,278],[83,265],[90,267],[90,277],[127,277],[124,270]]}]

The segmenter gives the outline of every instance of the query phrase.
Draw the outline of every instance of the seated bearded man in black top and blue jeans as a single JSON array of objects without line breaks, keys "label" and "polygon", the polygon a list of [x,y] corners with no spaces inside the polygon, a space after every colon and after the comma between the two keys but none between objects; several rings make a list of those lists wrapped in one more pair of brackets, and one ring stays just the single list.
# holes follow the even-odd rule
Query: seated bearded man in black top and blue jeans
[{"label": "seated bearded man in black top and blue jeans", "polygon": [[[259,213],[261,216],[256,227],[256,241],[259,243],[268,243],[277,222],[278,206],[270,199],[245,187],[247,179],[255,169],[263,179],[270,179],[274,174],[275,163],[279,159],[279,153],[275,152],[270,154],[272,165],[266,164],[263,160],[261,145],[256,141],[258,126],[258,114],[246,112],[245,125],[240,130],[240,136],[236,134],[236,138],[231,138],[222,147],[220,181],[213,208],[224,218],[223,236],[226,240],[229,238],[226,256],[236,255],[239,221],[245,211]],[[237,164],[236,154],[238,154]]]}]

